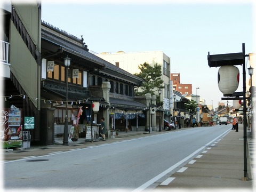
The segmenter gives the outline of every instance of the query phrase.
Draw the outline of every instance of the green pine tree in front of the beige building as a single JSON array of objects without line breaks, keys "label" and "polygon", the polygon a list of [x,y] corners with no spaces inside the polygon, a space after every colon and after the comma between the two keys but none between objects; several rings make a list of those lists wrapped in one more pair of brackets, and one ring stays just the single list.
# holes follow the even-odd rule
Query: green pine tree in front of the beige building
[{"label": "green pine tree in front of the beige building", "polygon": [[[157,63],[154,66],[150,66],[148,63],[143,63],[139,65],[140,73],[136,73],[134,75],[140,77],[143,79],[142,86],[137,87],[135,89],[135,95],[136,96],[142,96],[146,93],[150,93],[151,95],[154,95],[155,91],[158,91],[159,87],[164,88],[163,80],[161,79],[162,66],[158,65]],[[138,92],[138,89],[140,88],[140,92]]]}]

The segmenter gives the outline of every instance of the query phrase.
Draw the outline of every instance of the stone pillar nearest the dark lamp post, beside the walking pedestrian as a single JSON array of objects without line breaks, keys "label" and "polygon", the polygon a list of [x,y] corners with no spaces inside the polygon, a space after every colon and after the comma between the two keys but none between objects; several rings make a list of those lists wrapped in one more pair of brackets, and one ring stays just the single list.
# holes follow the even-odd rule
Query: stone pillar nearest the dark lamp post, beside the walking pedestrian
[{"label": "stone pillar nearest the dark lamp post, beside the walking pedestrian", "polygon": [[[109,82],[102,82],[102,91],[103,91],[103,98],[106,102],[109,103],[109,90],[110,90],[110,83]],[[105,118],[105,124],[107,128],[107,138],[110,138],[110,129],[109,129],[109,107],[106,110],[103,110],[103,117]]]}]

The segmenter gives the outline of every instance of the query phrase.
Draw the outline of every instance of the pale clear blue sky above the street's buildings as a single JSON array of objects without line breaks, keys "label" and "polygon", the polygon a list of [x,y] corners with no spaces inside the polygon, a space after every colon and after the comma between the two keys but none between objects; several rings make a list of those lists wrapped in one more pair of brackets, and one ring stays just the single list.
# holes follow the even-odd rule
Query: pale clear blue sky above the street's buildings
[{"label": "pale clear blue sky above the street's buildings", "polygon": [[[83,35],[88,48],[97,53],[163,51],[171,58],[171,72],[180,73],[181,83],[192,84],[193,94],[199,87],[206,105],[213,102],[218,107],[223,97],[219,68],[209,68],[207,54],[242,52],[242,43],[246,54],[256,52],[253,1],[173,2],[42,0],[42,20],[76,37]],[[242,66],[238,68],[237,91],[242,91]]]}]

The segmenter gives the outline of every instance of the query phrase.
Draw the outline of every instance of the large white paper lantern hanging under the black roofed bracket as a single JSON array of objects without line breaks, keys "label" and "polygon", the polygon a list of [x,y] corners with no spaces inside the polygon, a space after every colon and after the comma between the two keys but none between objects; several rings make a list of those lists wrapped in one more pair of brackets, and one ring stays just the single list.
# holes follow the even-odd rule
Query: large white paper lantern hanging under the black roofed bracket
[{"label": "large white paper lantern hanging under the black roofed bracket", "polygon": [[239,85],[239,69],[235,66],[222,66],[218,71],[218,86],[223,94],[233,94]]}]

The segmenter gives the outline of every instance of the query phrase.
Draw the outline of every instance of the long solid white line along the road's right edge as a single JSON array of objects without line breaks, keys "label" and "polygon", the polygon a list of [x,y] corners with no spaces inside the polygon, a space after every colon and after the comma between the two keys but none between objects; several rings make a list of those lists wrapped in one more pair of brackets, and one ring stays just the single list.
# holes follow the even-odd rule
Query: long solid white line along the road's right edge
[{"label": "long solid white line along the road's right edge", "polygon": [[216,137],[215,139],[211,140],[209,143],[206,143],[203,147],[197,149],[196,151],[194,151],[194,153],[191,153],[189,156],[183,158],[181,161],[179,161],[178,163],[175,163],[174,165],[172,165],[169,169],[163,171],[162,173],[156,175],[156,177],[150,179],[149,181],[147,181],[146,183],[142,184],[140,187],[134,189],[132,192],[139,192],[139,191],[143,191],[145,190],[147,187],[149,187],[150,185],[152,185],[154,182],[156,182],[158,179],[161,179],[162,177],[164,177],[164,175],[166,175],[167,173],[171,172],[172,170],[174,170],[175,168],[177,168],[179,165],[181,165],[182,163],[186,162],[189,158],[193,157],[194,155],[196,155],[197,153],[199,153],[201,150],[203,150],[205,148],[205,146],[209,146],[212,142],[214,142],[215,140],[217,140],[218,138],[220,138],[223,134],[226,134],[227,132],[229,132],[230,130],[227,130],[226,132],[222,133],[221,135],[219,135],[218,137]]}]

